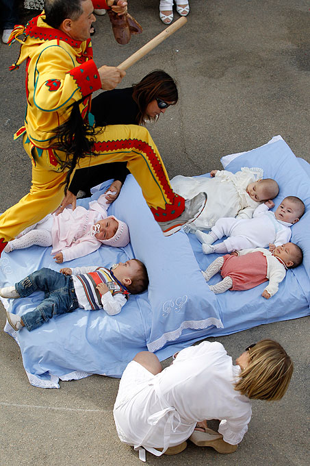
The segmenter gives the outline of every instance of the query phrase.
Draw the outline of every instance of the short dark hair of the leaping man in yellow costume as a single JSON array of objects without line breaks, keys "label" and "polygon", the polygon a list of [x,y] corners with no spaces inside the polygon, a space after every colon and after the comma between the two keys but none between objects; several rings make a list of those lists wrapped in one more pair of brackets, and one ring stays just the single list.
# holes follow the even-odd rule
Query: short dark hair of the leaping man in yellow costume
[{"label": "short dark hair of the leaping man in yellow costume", "polygon": [[62,21],[67,18],[77,20],[83,13],[81,3],[84,0],[45,0],[45,23],[59,29]]}]

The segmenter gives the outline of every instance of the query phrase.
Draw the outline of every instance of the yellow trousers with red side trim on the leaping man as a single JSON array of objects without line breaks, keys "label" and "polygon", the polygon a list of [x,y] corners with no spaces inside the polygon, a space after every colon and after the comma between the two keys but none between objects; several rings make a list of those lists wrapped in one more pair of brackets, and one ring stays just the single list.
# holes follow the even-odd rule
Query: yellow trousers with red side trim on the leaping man
[{"label": "yellow trousers with red side trim on the leaping man", "polygon": [[[24,135],[24,147],[32,161],[32,184],[29,193],[0,217],[0,254],[7,241],[53,212],[64,198],[62,183],[66,179],[66,171],[60,170],[59,160],[64,160],[65,154],[52,149],[38,149],[29,141],[27,134]],[[96,135],[94,152],[95,156],[81,159],[77,168],[127,162],[155,220],[167,221],[181,215],[185,200],[173,193],[162,158],[146,128],[109,125]]]}]

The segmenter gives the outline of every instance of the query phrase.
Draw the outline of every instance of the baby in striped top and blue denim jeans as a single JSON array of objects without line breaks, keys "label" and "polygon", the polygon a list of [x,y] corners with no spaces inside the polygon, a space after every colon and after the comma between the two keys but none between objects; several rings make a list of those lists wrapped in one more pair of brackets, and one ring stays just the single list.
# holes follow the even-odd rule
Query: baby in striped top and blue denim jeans
[{"label": "baby in striped top and blue denim jeans", "polygon": [[129,294],[138,294],[148,287],[146,267],[138,259],[114,264],[111,269],[98,266],[68,267],[56,272],[40,269],[15,284],[0,289],[6,298],[27,297],[44,291],[44,299],[22,316],[7,312],[14,330],[26,327],[29,332],[42,326],[56,315],[73,312],[77,308],[99,310],[116,315],[126,304]]}]

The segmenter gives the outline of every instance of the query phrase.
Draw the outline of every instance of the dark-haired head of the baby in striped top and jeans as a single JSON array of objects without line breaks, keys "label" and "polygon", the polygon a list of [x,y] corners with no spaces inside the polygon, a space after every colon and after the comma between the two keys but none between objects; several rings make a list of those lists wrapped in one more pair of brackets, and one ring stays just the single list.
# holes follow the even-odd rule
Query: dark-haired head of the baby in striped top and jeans
[{"label": "dark-haired head of the baby in striped top and jeans", "polygon": [[131,295],[142,293],[148,287],[148,274],[141,260],[130,259],[126,262],[118,262],[112,267],[112,271],[118,281],[126,286]]}]

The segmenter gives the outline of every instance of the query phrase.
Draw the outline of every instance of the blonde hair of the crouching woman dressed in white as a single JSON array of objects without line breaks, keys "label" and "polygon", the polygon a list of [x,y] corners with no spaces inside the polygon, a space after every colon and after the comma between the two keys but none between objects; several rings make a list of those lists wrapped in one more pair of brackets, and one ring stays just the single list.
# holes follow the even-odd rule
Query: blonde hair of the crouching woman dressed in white
[{"label": "blonde hair of the crouching woman dressed in white", "polygon": [[293,373],[292,359],[273,340],[261,340],[249,350],[250,362],[235,390],[253,400],[281,400]]}]

